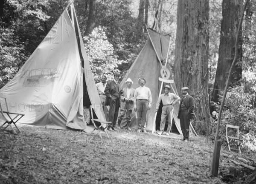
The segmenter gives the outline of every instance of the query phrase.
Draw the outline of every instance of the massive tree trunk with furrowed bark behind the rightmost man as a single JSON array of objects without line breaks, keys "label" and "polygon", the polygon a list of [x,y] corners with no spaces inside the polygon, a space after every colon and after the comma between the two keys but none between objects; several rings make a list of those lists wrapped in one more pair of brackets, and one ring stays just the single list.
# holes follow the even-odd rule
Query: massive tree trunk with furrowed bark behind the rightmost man
[{"label": "massive tree trunk with furrowed bark behind the rightmost man", "polygon": [[[190,1],[186,1],[189,3]],[[189,88],[195,99],[198,133],[208,134],[211,116],[208,99],[209,0],[196,1],[198,8],[178,1],[175,70],[178,93]],[[193,5],[194,6],[194,5]]]}]

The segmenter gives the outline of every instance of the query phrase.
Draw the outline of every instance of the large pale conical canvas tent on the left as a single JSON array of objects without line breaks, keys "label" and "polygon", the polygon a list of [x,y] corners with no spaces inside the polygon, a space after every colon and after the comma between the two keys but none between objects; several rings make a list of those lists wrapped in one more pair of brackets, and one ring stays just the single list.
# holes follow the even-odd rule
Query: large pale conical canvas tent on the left
[{"label": "large pale conical canvas tent on the left", "polygon": [[25,114],[18,123],[83,130],[83,105],[92,105],[96,116],[105,120],[75,9],[73,4],[70,12],[67,8],[17,75],[0,90],[7,96],[10,112]]}]

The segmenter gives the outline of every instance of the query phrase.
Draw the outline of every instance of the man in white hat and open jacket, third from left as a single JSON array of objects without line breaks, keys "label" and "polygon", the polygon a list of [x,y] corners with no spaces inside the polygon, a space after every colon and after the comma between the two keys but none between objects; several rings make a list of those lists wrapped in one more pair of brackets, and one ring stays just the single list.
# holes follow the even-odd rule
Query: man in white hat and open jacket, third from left
[{"label": "man in white hat and open jacket, third from left", "polygon": [[131,85],[133,84],[133,81],[128,78],[125,81],[127,87],[121,90],[121,96],[120,96],[120,113],[118,118],[118,125],[117,128],[121,128],[121,121],[125,116],[126,112],[126,129],[131,130],[130,123],[131,123],[131,111],[134,108],[134,88],[131,88]]}]

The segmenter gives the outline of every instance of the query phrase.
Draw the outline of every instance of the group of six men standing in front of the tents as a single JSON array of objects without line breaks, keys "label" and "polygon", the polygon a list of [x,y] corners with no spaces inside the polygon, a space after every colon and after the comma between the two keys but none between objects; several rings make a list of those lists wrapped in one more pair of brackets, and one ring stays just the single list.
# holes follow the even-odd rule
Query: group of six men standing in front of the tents
[{"label": "group of six men standing in front of the tents", "polygon": [[[134,89],[131,87],[134,82],[128,78],[125,81],[127,87],[120,90],[118,84],[119,77],[120,73],[116,72],[114,74],[114,79],[106,82],[107,77],[103,75],[101,82],[96,84],[105,117],[108,122],[112,122],[108,126],[108,130],[117,131],[117,128],[120,129],[121,121],[125,114],[127,122],[125,128],[127,130],[131,130],[131,112],[134,109],[134,111],[137,113],[137,132],[147,133],[145,124],[147,121],[147,112],[149,109],[151,109],[152,96],[150,89],[145,87],[146,80],[144,78],[138,79],[140,87]],[[187,142],[189,139],[189,117],[190,113],[192,113],[194,110],[195,102],[194,98],[188,94],[189,88],[183,87],[181,90],[183,97],[179,105],[178,118],[180,119],[183,140]],[[164,132],[167,116],[168,128],[166,135],[169,135],[174,108],[178,107],[179,101],[180,97],[174,93],[170,93],[170,86],[166,85],[164,87],[164,93],[160,95],[156,105],[157,113],[160,103],[163,103],[160,131],[158,132],[159,135],[162,135]],[[116,121],[118,122],[117,126]]]}]

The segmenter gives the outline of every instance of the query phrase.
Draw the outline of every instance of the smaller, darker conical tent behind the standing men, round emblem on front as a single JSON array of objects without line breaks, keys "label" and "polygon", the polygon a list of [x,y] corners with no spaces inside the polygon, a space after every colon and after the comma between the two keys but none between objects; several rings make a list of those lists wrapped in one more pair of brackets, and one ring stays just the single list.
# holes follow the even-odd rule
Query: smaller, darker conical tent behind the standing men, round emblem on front
[{"label": "smaller, darker conical tent behind the standing men, round emblem on front", "polygon": [[[167,65],[167,57],[168,57],[168,50],[169,50],[169,44],[170,44],[170,35],[166,34],[160,34],[156,31],[147,28],[148,30],[148,40],[146,41],[142,51],[140,52],[137,59],[134,61],[134,63],[131,65],[131,68],[128,71],[128,74],[125,76],[124,79],[122,79],[122,82],[120,83],[121,88],[125,88],[126,84],[125,81],[128,78],[131,78],[134,84],[132,85],[132,88],[136,89],[140,85],[138,83],[138,79],[140,77],[145,78],[146,84],[145,86],[150,88],[151,95],[152,95],[152,107],[150,110],[148,110],[147,113],[147,122],[146,122],[146,130],[155,131],[155,120],[156,120],[156,104],[157,99],[159,97],[159,93],[163,92],[163,86],[164,85],[170,85],[172,93],[177,93],[177,89],[175,86],[175,83],[169,83],[170,79],[172,79],[172,75],[167,74],[165,78],[162,79],[161,75],[161,69],[163,72],[170,72],[171,68],[169,65]],[[167,69],[165,69],[167,68]],[[162,81],[164,81],[162,83]],[[172,80],[171,80],[172,81]],[[179,96],[179,95],[178,95]],[[177,130],[180,134],[182,134],[181,128],[180,128],[180,120],[177,118],[178,115],[178,105],[174,108],[174,122],[177,127]],[[161,116],[160,113],[157,114],[157,116]],[[137,119],[135,118],[135,113],[133,111],[132,113],[132,121],[131,121],[131,127],[133,129],[136,128]],[[126,119],[122,120],[121,127],[126,125]],[[192,125],[190,124],[190,132],[191,135],[195,133],[195,130],[193,129]],[[193,132],[193,133],[192,133]]]}]

